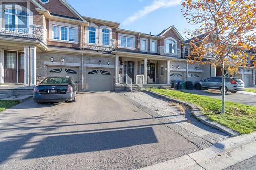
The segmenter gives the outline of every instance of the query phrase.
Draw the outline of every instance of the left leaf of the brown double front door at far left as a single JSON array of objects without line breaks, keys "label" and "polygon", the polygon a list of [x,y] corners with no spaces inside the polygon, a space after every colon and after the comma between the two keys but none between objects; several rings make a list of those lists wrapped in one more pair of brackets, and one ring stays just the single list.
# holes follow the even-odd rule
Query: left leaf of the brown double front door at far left
[{"label": "left leaf of the brown double front door at far left", "polygon": [[17,83],[17,52],[5,51],[5,83]]}]

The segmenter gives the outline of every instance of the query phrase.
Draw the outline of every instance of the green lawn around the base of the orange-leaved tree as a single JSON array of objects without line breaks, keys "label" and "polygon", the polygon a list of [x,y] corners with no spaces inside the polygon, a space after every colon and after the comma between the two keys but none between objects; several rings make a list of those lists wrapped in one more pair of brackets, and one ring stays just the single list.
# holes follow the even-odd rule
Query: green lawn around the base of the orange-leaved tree
[{"label": "green lawn around the base of the orange-leaved tree", "polygon": [[211,120],[219,122],[227,127],[240,132],[241,134],[256,131],[256,106],[249,106],[235,102],[226,102],[226,113],[221,113],[221,100],[201,96],[197,94],[185,93],[176,90],[147,89],[170,98],[195,104],[202,113]]}]

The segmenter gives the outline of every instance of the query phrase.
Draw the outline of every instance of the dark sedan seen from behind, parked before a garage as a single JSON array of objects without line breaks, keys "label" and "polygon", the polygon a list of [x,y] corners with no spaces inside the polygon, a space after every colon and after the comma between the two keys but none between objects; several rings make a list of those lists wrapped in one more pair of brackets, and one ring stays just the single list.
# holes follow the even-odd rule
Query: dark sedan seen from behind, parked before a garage
[{"label": "dark sedan seen from behind, parked before a garage", "polygon": [[34,88],[33,99],[37,103],[76,102],[78,85],[72,77],[48,77]]}]

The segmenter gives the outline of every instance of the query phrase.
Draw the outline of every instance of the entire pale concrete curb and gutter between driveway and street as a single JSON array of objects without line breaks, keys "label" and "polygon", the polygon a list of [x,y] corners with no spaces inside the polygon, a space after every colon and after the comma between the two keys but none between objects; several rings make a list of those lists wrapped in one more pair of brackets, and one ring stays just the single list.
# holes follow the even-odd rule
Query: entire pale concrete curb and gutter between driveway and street
[{"label": "entire pale concrete curb and gutter between driveway and street", "polygon": [[224,169],[256,155],[256,132],[215,143],[209,148],[179,158],[142,168],[167,169]]}]

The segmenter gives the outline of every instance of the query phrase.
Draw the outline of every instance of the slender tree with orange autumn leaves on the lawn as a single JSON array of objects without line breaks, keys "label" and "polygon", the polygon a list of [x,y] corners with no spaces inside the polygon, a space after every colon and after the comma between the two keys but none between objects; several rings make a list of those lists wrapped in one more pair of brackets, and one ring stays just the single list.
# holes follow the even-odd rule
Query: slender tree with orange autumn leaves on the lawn
[{"label": "slender tree with orange autumn leaves on the lawn", "polygon": [[[225,69],[250,67],[248,58],[253,58],[245,51],[255,45],[256,3],[254,0],[185,0],[181,11],[188,23],[197,26],[186,33],[191,37],[203,35],[190,42],[188,62],[222,67],[221,113],[224,114]],[[201,42],[195,44],[198,41]]]}]

